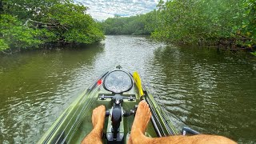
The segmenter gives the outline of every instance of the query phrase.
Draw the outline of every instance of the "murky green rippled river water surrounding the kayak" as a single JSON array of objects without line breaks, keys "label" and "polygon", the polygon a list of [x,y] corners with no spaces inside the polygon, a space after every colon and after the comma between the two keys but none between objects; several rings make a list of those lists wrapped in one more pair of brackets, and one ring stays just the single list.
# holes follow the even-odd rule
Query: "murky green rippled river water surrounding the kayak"
[{"label": "murky green rippled river water surrounding the kayak", "polygon": [[83,49],[0,56],[0,143],[37,142],[82,90],[119,64],[142,75],[178,129],[255,143],[254,63],[131,36],[107,36]]}]

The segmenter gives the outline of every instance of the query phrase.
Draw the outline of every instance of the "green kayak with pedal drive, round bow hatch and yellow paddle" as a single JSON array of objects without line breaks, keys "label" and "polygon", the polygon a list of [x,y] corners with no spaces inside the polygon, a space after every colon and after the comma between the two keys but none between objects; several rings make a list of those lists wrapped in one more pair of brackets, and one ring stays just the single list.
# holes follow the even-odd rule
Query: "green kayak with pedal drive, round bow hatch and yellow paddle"
[{"label": "green kayak with pedal drive, round bow hatch and yellow paddle", "polygon": [[106,106],[102,141],[126,143],[138,102],[145,99],[150,106],[151,119],[146,129],[149,137],[181,134],[142,86],[137,72],[131,74],[121,66],[106,71],[63,112],[38,143],[81,143],[93,129],[92,110]]}]

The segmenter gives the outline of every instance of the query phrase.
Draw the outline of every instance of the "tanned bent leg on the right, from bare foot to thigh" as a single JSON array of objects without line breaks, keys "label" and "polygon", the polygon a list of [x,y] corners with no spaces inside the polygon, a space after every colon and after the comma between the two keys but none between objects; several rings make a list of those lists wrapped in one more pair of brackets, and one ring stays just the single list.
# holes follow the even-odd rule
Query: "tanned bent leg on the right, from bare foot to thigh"
[{"label": "tanned bent leg on the right, from bare foot to thigh", "polygon": [[139,102],[138,109],[134,118],[134,123],[131,128],[129,143],[179,143],[179,144],[205,144],[205,143],[218,143],[218,144],[232,144],[236,143],[229,138],[217,135],[198,134],[194,136],[169,136],[162,138],[148,138],[144,135],[146,126],[150,121],[150,107],[145,101]]}]

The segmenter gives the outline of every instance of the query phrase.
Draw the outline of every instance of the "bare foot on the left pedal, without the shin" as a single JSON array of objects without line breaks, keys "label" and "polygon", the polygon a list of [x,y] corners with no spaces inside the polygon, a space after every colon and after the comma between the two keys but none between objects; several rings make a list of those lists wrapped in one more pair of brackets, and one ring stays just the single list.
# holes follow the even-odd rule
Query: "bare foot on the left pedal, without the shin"
[{"label": "bare foot on the left pedal, without the shin", "polygon": [[103,129],[104,121],[105,121],[106,107],[98,106],[93,110],[93,115],[91,116],[91,120],[94,128]]}]

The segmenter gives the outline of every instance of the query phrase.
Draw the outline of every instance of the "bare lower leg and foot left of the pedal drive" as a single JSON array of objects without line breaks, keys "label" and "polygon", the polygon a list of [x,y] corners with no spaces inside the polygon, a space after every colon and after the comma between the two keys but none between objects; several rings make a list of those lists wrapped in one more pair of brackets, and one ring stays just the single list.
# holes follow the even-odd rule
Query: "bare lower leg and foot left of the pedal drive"
[{"label": "bare lower leg and foot left of the pedal drive", "polygon": [[82,140],[81,143],[102,144],[102,131],[105,121],[106,108],[105,106],[98,106],[94,109],[91,116],[94,129]]}]

